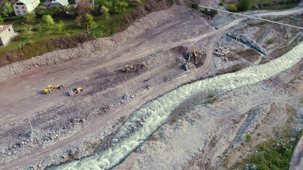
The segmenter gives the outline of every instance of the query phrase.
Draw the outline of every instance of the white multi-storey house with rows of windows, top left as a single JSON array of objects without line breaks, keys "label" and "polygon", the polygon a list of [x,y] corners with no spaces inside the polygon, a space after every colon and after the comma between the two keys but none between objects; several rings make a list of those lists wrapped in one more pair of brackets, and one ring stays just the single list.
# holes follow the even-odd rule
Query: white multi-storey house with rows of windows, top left
[{"label": "white multi-storey house with rows of windows, top left", "polygon": [[13,5],[16,16],[24,16],[26,12],[33,11],[40,3],[40,0],[18,0]]}]

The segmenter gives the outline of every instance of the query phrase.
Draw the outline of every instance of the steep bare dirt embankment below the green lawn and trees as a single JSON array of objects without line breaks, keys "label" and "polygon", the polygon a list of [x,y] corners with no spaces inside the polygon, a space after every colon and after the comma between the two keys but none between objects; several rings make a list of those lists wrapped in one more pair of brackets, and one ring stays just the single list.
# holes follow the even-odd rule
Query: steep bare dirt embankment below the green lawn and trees
[{"label": "steep bare dirt embankment below the green lawn and trees", "polygon": [[[184,8],[186,8],[175,5],[175,8],[182,9],[180,9],[179,11],[168,9],[169,7],[172,7],[172,5],[173,3],[169,0],[150,0],[145,4],[144,7],[138,7],[137,10],[134,10],[131,13],[125,15],[125,17],[123,18],[124,24],[120,28],[121,30],[119,30],[122,31],[125,29],[124,31],[116,33],[115,35],[112,35],[110,37],[97,38],[95,40],[86,41],[83,44],[75,46],[74,48],[69,48],[70,46],[67,46],[65,48],[69,49],[48,52],[27,60],[14,62],[10,65],[3,66],[0,68],[0,80],[32,68],[52,65],[73,58],[87,56],[92,54],[93,52],[107,50],[111,47],[122,44],[126,40],[134,38],[145,30],[155,27],[158,23],[162,23],[165,20],[176,16],[179,11],[184,11]],[[163,9],[169,10],[169,12]],[[63,41],[59,40],[57,43],[62,44]],[[69,44],[69,41],[66,41],[65,43]],[[58,46],[58,48],[61,47]],[[21,53],[21,55],[24,56],[26,55],[26,53]],[[12,56],[9,56],[8,58],[10,57]]]}]

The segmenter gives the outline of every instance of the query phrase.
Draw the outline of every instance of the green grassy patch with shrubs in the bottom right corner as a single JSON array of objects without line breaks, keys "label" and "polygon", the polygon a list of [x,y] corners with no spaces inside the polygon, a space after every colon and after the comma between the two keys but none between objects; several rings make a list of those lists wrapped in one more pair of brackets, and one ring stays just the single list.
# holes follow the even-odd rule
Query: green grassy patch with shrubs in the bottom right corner
[{"label": "green grassy patch with shrubs in the bottom right corner", "polygon": [[248,158],[247,162],[257,166],[257,169],[288,169],[296,143],[303,132],[295,140],[275,140],[261,143],[257,146],[258,153]]}]

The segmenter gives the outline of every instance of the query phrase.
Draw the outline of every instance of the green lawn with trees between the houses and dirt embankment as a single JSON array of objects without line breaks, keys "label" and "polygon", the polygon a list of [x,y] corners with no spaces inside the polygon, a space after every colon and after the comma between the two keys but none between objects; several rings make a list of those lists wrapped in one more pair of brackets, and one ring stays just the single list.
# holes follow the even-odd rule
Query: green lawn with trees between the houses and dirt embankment
[{"label": "green lawn with trees between the houses and dirt embankment", "polygon": [[[129,7],[126,9],[125,12],[112,12],[110,17],[106,18],[102,15],[99,16],[94,16],[94,22],[96,22],[96,26],[98,25],[105,25],[107,22],[110,22],[111,20],[116,19],[119,16],[123,16],[125,13],[130,12],[131,9],[134,7]],[[5,22],[4,24],[11,24],[13,26],[14,30],[21,30],[21,33],[18,34],[13,41],[10,42],[9,45],[5,47],[0,47],[0,55],[4,54],[6,51],[11,50],[11,49],[16,49],[17,44],[22,41],[22,42],[37,42],[37,41],[43,41],[43,40],[48,40],[51,38],[59,38],[59,37],[64,37],[66,34],[79,34],[82,32],[85,32],[86,29],[85,27],[79,27],[74,24],[74,19],[73,18],[64,18],[64,17],[53,17],[55,24],[59,23],[59,20],[63,20],[65,22],[65,32],[64,33],[58,33],[56,25],[52,29],[52,33],[47,35],[45,32],[40,32],[38,30],[38,25],[41,23],[41,18],[36,18],[34,23],[32,23],[32,28],[34,32],[34,36],[32,38],[27,38],[24,36],[23,31],[24,31],[24,25],[22,23],[25,23],[23,18],[13,20],[11,22]],[[42,23],[43,27],[46,27],[46,24]]]}]

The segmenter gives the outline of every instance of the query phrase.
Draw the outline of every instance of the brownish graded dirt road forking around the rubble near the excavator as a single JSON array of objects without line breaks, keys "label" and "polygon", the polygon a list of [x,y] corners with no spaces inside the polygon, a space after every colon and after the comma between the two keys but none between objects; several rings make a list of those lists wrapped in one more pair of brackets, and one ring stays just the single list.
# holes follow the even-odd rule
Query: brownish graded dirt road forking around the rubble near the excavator
[{"label": "brownish graded dirt road forking around the rubble near the excavator", "polygon": [[[302,10],[300,10],[300,12],[301,11]],[[296,9],[295,13],[297,12]],[[271,12],[271,15],[281,15],[281,13]],[[83,128],[73,136],[55,143],[50,147],[39,148],[16,160],[3,163],[0,165],[0,168],[19,167],[41,156],[49,155],[54,150],[80,139],[84,134],[96,131],[117,115],[133,110],[142,104],[142,101],[149,96],[155,95],[163,91],[163,89],[179,86],[191,78],[205,75],[213,68],[212,53],[214,43],[223,31],[238,24],[243,19],[244,18],[239,18],[218,31],[213,31],[213,29],[205,31],[205,28],[208,27],[205,27],[205,22],[194,12],[186,12],[167,22],[159,24],[155,28],[144,32],[121,46],[111,48],[105,53],[104,51],[98,51],[92,56],[85,56],[55,66],[33,69],[0,81],[0,88],[2,89],[0,96],[4,96],[0,102],[0,126],[4,126],[22,119],[24,116],[30,116],[32,113],[43,111],[62,102],[72,100],[72,97],[66,96],[65,94],[74,86],[84,87],[83,94],[81,95],[85,95],[90,91],[99,90],[96,89],[96,87],[98,87],[100,81],[121,76],[122,73],[120,70],[124,65],[131,65],[133,60],[146,57],[155,51],[169,49],[177,45],[192,48],[195,45],[194,42],[211,37],[207,42],[207,55],[203,67],[193,72],[187,72],[171,81],[159,84],[159,86],[151,88],[147,93],[136,96],[131,102],[106,115],[103,119]],[[195,27],[193,27],[193,25]],[[201,32],[201,30],[204,30],[204,32]],[[207,31],[213,32],[205,34]],[[213,36],[214,34],[215,36]],[[188,35],[194,35],[194,37],[188,39]],[[98,81],[94,81],[96,77],[98,77]],[[42,90],[48,84],[55,85],[60,83],[64,83],[66,89],[63,91],[55,91],[51,95],[44,95],[42,93]],[[65,94],[63,94],[63,92],[65,92]]]}]

